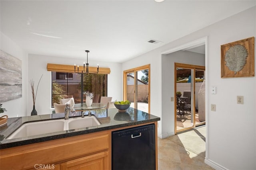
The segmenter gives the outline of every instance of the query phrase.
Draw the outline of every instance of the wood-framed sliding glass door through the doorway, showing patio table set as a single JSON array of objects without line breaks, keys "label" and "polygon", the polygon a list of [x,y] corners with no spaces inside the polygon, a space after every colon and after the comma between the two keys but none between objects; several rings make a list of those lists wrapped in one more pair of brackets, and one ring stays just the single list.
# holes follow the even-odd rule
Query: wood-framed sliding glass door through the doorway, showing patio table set
[{"label": "wood-framed sliding glass door through the doorway, showing patio table set", "polygon": [[204,70],[175,63],[175,133],[205,124]]}]

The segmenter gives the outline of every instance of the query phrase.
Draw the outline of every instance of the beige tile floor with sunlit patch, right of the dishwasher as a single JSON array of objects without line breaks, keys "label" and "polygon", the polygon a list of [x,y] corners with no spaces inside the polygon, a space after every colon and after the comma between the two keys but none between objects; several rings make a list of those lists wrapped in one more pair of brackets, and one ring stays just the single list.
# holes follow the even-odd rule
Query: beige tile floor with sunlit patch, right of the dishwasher
[{"label": "beige tile floor with sunlit patch, right of the dishwasher", "polygon": [[204,163],[206,127],[158,138],[158,170],[212,170]]}]

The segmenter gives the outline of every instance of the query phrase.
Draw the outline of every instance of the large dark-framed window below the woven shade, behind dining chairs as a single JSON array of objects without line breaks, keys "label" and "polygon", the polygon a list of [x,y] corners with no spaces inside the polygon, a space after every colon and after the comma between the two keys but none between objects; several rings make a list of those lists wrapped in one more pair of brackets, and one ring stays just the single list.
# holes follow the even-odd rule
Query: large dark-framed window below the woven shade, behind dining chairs
[{"label": "large dark-framed window below the woven shade, behind dining chairs", "polygon": [[[81,103],[81,75],[68,72],[52,71],[52,107],[59,104],[62,98],[73,96],[75,103]],[[107,96],[107,74],[84,74],[82,92],[89,91],[94,94],[94,103],[98,103],[101,96]],[[85,102],[85,95],[83,102]]]}]

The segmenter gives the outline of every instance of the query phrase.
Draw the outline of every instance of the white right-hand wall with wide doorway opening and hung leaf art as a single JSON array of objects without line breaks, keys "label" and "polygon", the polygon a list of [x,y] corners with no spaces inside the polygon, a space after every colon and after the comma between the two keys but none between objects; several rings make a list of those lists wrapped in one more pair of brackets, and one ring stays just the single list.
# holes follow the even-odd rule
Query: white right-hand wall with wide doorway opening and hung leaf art
[{"label": "white right-hand wall with wide doorway opening and hung leaf art", "polygon": [[[165,72],[168,70],[167,67],[172,65],[167,63],[162,65],[164,61],[161,62],[161,53],[196,39],[208,37],[206,44],[208,49],[206,51],[206,100],[208,99],[206,101],[206,163],[214,168],[256,169],[256,77],[220,77],[220,45],[255,37],[255,22],[256,7],[254,6],[122,64],[122,70],[151,64],[150,112],[161,117],[158,135],[171,133],[174,129],[174,116],[170,111],[166,112],[166,107],[171,106],[172,103],[164,102],[162,98],[169,100],[172,94],[166,94],[162,89],[161,77],[164,76],[161,71]],[[170,80],[173,80],[173,76],[170,75]],[[216,94],[210,94],[211,86],[216,86]],[[236,96],[244,96],[243,105],[236,104]],[[210,111],[210,104],[216,104],[215,112]],[[173,108],[170,109],[173,110]]]}]

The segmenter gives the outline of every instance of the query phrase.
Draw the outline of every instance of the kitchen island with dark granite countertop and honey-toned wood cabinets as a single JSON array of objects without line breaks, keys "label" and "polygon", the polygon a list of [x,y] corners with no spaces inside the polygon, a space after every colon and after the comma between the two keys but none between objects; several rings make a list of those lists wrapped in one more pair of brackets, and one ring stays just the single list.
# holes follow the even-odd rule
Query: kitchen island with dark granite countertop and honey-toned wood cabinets
[{"label": "kitchen island with dark granite countertop and honey-toned wood cabinets", "polygon": [[[58,131],[29,137],[8,139],[22,124],[32,121],[64,119],[64,115],[48,114],[9,118],[0,127],[0,168],[35,169],[35,166],[52,169],[86,167],[87,169],[111,169],[111,133],[141,125],[155,124],[157,169],[157,121],[159,117],[128,108],[118,112],[116,108],[92,110],[100,125]],[[86,111],[86,115],[88,111]],[[63,116],[63,117],[62,117]],[[70,119],[81,115],[70,115]],[[82,119],[82,118],[80,118]]]}]

